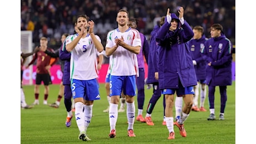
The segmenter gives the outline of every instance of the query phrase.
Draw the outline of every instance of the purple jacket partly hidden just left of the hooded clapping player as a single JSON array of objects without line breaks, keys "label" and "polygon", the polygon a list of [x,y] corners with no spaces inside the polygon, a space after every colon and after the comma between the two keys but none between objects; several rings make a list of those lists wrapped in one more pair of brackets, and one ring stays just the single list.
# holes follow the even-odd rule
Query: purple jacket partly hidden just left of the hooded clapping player
[{"label": "purple jacket partly hidden just left of the hooded clapping player", "polygon": [[151,39],[149,44],[149,61],[147,67],[147,84],[158,83],[158,80],[155,79],[155,72],[158,71],[158,52],[155,35],[159,28],[159,25],[156,25],[151,32]]}]

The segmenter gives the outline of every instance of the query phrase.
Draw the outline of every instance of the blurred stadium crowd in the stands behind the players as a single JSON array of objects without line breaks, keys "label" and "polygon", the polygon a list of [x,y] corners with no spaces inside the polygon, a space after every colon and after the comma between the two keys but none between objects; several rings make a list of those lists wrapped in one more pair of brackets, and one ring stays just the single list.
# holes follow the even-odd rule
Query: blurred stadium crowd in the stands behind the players
[{"label": "blurred stadium crowd in the stands behind the players", "polygon": [[150,39],[150,32],[165,16],[166,9],[178,13],[183,6],[186,20],[191,27],[201,25],[206,37],[213,23],[223,25],[225,35],[235,44],[235,1],[234,0],[22,0],[21,30],[33,31],[33,43],[37,45],[42,36],[49,39],[49,46],[57,49],[61,45],[63,33],[73,33],[73,24],[78,14],[87,14],[95,26],[95,33],[105,46],[109,30],[117,27],[116,12],[125,8],[130,18],[139,19],[137,29]]}]

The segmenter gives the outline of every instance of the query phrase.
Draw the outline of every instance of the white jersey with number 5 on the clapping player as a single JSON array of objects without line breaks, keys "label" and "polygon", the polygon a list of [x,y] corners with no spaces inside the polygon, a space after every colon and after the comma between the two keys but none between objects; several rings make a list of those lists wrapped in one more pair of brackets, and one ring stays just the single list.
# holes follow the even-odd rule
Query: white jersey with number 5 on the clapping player
[{"label": "white jersey with number 5 on the clapping player", "polygon": [[[73,34],[66,39],[66,45],[77,38],[78,34]],[[97,40],[101,42],[98,35]],[[76,47],[71,51],[70,59],[70,79],[91,80],[98,78],[97,71],[97,49],[92,43],[90,34],[85,38],[81,38]]]}]

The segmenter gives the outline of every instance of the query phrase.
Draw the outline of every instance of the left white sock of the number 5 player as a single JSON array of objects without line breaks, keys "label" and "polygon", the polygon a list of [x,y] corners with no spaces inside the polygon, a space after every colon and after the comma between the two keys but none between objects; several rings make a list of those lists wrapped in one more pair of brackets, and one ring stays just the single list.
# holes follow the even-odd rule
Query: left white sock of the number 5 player
[{"label": "left white sock of the number 5 player", "polygon": [[75,103],[76,124],[79,131],[85,131],[85,114],[83,114],[83,103]]}]

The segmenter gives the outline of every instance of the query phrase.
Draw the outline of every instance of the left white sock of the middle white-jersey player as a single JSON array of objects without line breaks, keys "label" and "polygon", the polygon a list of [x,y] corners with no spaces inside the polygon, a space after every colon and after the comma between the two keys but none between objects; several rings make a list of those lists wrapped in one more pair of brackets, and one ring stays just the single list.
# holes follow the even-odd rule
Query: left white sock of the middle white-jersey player
[{"label": "left white sock of the middle white-jersey player", "polygon": [[116,121],[118,117],[118,105],[110,103],[109,106],[109,123],[110,123],[110,131],[116,129]]}]

